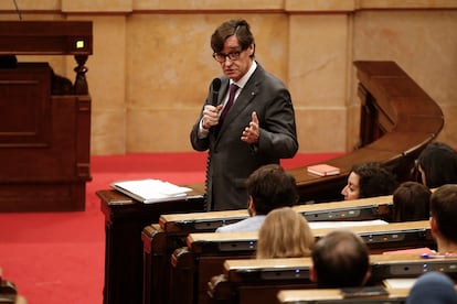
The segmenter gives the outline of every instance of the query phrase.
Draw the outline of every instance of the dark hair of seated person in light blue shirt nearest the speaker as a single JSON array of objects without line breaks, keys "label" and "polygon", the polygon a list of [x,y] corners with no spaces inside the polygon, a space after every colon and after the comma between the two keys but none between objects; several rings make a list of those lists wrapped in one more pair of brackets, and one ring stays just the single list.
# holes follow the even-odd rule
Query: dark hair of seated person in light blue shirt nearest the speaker
[{"label": "dark hair of seated person in light blue shirt nearest the speaker", "polygon": [[257,215],[267,215],[279,207],[290,207],[298,200],[297,183],[289,172],[278,164],[268,164],[254,171],[246,181]]}]

